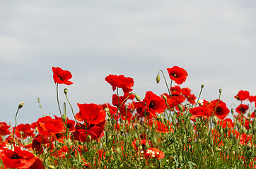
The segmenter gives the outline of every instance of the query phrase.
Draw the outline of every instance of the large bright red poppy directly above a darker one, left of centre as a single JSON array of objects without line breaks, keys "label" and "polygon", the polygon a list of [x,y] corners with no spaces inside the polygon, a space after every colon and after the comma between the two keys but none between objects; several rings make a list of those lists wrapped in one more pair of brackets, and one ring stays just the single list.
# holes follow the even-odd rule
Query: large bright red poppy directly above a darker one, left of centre
[{"label": "large bright red poppy directly above a darker one, left of centre", "polygon": [[81,118],[89,124],[97,125],[105,121],[106,112],[98,104],[77,104]]}]

